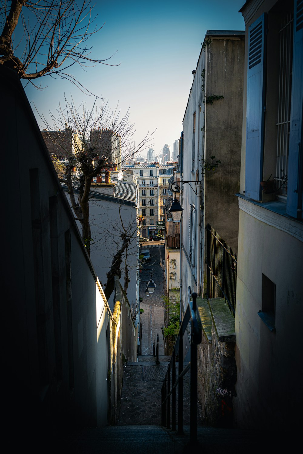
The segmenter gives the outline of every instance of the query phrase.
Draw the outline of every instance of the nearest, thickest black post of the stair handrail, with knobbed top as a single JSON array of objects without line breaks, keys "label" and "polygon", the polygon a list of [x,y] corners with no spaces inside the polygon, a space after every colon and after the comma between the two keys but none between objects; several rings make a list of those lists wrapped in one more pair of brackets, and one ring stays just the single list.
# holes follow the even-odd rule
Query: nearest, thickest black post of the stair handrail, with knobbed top
[{"label": "nearest, thickest black post of the stair handrail, with knobbed top", "polygon": [[[197,294],[192,294],[193,298],[193,311],[197,310],[196,298]],[[193,329],[193,326],[192,326]],[[195,444],[197,442],[197,352],[198,347],[193,342],[193,331],[190,342],[190,443]]]}]

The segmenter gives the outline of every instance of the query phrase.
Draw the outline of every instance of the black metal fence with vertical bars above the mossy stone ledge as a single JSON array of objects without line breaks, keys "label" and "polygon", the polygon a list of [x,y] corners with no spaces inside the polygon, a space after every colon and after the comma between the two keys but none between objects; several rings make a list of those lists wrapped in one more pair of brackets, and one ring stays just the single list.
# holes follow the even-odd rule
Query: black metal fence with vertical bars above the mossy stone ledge
[{"label": "black metal fence with vertical bars above the mossy stone ledge", "polygon": [[236,308],[237,255],[223,238],[207,224],[207,281],[208,298],[225,298],[233,316]]}]

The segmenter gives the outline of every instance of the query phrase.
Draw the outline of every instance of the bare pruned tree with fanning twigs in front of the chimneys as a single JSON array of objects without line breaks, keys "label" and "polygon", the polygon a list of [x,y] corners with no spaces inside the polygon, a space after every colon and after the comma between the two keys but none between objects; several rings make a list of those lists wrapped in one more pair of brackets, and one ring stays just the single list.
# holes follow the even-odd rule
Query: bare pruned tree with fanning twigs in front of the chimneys
[{"label": "bare pruned tree with fanning twigs in front of the chimneys", "polygon": [[[91,242],[89,199],[93,178],[102,173],[106,178],[106,174],[114,166],[119,167],[125,159],[149,146],[152,135],[148,133],[134,148],[131,142],[134,128],[129,123],[129,112],[120,117],[118,107],[112,112],[107,103],[102,102],[101,106],[97,106],[96,102],[97,99],[93,108],[88,109],[85,102],[77,107],[73,100],[68,102],[65,98],[64,107],[59,106],[56,114],[50,113],[55,131],[50,130],[49,122],[40,115],[47,127],[42,131],[42,135],[50,153],[53,156],[58,154],[67,160],[65,178],[60,178],[59,175],[59,179],[67,185],[71,206],[75,218],[81,223],[82,237],[88,253]],[[60,130],[63,125],[63,130]],[[124,246],[121,252],[117,252],[119,257],[128,245],[125,229],[122,235]],[[118,262],[119,257],[115,259]]]}]

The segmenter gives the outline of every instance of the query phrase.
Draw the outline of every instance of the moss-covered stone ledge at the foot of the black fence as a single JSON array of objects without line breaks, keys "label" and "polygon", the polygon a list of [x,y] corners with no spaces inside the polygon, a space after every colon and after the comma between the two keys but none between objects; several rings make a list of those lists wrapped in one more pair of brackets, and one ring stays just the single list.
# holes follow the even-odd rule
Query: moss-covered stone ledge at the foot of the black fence
[{"label": "moss-covered stone ledge at the foot of the black fence", "polygon": [[209,308],[214,322],[218,341],[235,342],[234,318],[224,298],[210,298]]}]

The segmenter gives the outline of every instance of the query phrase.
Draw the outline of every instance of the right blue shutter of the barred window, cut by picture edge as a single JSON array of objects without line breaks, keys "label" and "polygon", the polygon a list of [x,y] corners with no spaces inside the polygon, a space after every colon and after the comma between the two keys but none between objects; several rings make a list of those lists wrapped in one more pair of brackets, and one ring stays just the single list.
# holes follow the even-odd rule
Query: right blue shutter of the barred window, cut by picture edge
[{"label": "right blue shutter of the barred window, cut by picture edge", "polygon": [[[302,191],[302,104],[303,104],[303,0],[294,2],[293,17],[293,78],[290,108],[290,132],[288,153],[288,191],[286,212],[293,217],[301,217],[298,211],[299,192]],[[302,208],[302,207],[301,207]],[[300,213],[300,214],[299,214]]]}]

